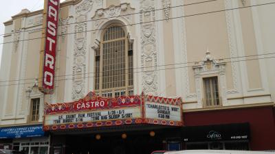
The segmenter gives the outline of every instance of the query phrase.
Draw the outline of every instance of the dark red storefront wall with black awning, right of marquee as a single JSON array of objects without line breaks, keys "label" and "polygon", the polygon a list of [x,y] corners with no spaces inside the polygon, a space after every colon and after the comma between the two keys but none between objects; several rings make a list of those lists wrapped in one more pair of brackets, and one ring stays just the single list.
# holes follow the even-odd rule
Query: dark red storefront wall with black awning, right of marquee
[{"label": "dark red storefront wall with black awning, right of marquee", "polygon": [[[223,148],[249,149],[251,151],[275,149],[273,105],[184,112],[184,127],[188,131],[184,135],[184,138],[186,138],[185,149]],[[188,127],[193,127],[194,129],[190,131]],[[210,131],[219,132],[223,138],[216,138],[214,142],[210,143],[210,140],[213,140],[207,138]],[[188,135],[189,133],[194,137],[186,137],[186,134]],[[196,146],[193,144],[195,142],[199,142],[199,144]],[[200,144],[202,142],[206,144]]]}]

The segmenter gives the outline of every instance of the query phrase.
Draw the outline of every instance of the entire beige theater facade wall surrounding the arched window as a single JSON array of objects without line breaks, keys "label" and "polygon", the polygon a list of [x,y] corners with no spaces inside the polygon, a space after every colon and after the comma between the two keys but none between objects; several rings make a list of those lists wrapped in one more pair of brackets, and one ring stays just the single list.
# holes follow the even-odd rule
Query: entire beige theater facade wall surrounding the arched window
[{"label": "entire beige theater facade wall surrounding the arched window", "polygon": [[[270,1],[265,0],[261,3]],[[84,2],[85,0],[66,1],[61,5],[61,26],[56,52],[56,82],[53,95],[41,94],[36,87],[41,44],[41,40],[36,39],[41,37],[41,31],[36,29],[41,28],[42,11],[23,12],[17,14],[16,18],[12,18],[12,21],[5,23],[5,42],[17,42],[16,36],[10,33],[21,28],[25,32],[21,31],[20,39],[30,40],[3,45],[0,80],[7,82],[0,83],[0,125],[27,123],[30,100],[33,98],[41,98],[40,121],[42,121],[44,101],[47,103],[69,102],[82,98],[89,91],[94,91],[94,51],[100,46],[102,28],[112,23],[123,25],[128,32],[129,41],[133,42],[135,94],[140,94],[144,90],[142,57],[148,50],[142,48],[142,41],[146,40],[144,36],[150,36],[153,31],[153,35],[150,36],[155,39],[152,43],[152,49],[155,49],[153,60],[156,60],[156,66],[162,66],[156,67],[157,69],[164,68],[162,71],[154,70],[157,75],[155,93],[163,97],[182,97],[184,111],[208,110],[201,104],[202,81],[203,77],[210,76],[218,76],[219,79],[223,103],[217,109],[274,103],[275,72],[272,68],[274,60],[272,58],[250,60],[252,57],[248,57],[269,53],[275,49],[274,41],[272,41],[275,39],[275,21],[270,20],[274,18],[274,15],[270,14],[274,12],[272,5],[265,8],[259,7],[256,10],[248,8],[201,14],[225,10],[228,3],[232,4],[229,5],[231,8],[243,5],[241,1],[213,1],[181,6],[177,8],[181,14],[175,13],[173,11],[175,8],[165,8],[165,10],[164,1],[104,0],[93,3],[89,6],[91,8],[86,5],[81,7],[85,4]],[[146,5],[147,2],[148,5]],[[175,3],[172,0],[168,2],[170,3],[166,5],[179,5],[179,2]],[[202,2],[202,0],[186,0],[180,3],[195,2]],[[255,3],[259,1],[247,1],[245,5]],[[109,8],[110,5],[115,5],[115,7]],[[114,12],[112,12],[113,9]],[[155,11],[148,15],[141,11],[146,9]],[[126,16],[126,14],[131,15]],[[179,14],[186,16],[184,20],[183,17],[177,18],[177,22],[173,21],[175,19],[167,19],[177,17]],[[164,20],[154,21],[159,19]],[[84,23],[81,25],[78,23],[80,21]],[[143,27],[144,23],[141,25],[140,22],[151,22],[152,25],[146,29],[147,27]],[[83,30],[80,31],[80,29]],[[78,46],[78,42],[83,43],[83,46]],[[83,59],[76,55],[78,49],[83,50]],[[207,51],[210,52],[210,59],[206,55]],[[177,53],[180,58],[177,57]],[[245,61],[235,62],[233,65],[231,61],[243,60],[234,58],[238,56],[245,57]],[[256,58],[259,57],[265,58],[267,55]],[[204,62],[208,60],[207,58],[213,66],[219,69],[206,70]],[[176,60],[180,65],[175,65]],[[78,62],[83,66],[80,75],[74,71]],[[196,68],[198,64],[203,66]],[[181,68],[175,69],[178,66]],[[195,70],[199,70],[199,76],[196,76]],[[81,79],[83,84],[80,87],[74,81],[74,77]],[[17,79],[22,81],[10,81]],[[179,80],[183,81],[179,82]],[[78,88],[81,93],[74,93],[79,90]],[[74,94],[76,97],[73,97]]]}]

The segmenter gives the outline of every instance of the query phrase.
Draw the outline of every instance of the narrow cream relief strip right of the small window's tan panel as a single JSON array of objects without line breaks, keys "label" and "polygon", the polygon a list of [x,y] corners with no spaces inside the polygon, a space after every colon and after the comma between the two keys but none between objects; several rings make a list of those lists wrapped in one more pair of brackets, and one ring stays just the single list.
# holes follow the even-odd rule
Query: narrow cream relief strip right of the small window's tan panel
[{"label": "narrow cream relief strip right of the small window's tan panel", "polygon": [[[225,9],[232,8],[232,1],[231,0],[225,0]],[[234,61],[232,57],[236,57],[236,39],[234,38],[234,25],[233,24],[233,17],[232,17],[232,10],[225,11],[225,17],[226,17],[226,25],[228,29],[228,42],[229,42],[229,49],[230,49],[230,57],[231,61]],[[232,66],[232,77],[233,77],[233,89],[228,90],[229,94],[237,93],[237,75],[236,75],[236,62],[231,63]]]}]

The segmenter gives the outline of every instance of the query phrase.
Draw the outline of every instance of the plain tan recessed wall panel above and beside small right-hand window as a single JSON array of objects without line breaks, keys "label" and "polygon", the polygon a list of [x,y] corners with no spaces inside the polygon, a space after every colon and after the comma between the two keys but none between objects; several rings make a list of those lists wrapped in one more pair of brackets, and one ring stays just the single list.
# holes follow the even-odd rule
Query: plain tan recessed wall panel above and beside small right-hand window
[{"label": "plain tan recessed wall panel above and beside small right-hand window", "polygon": [[[194,2],[185,1],[184,4],[187,5]],[[203,60],[207,50],[210,51],[215,60],[224,59],[225,62],[230,61],[225,12],[195,15],[224,9],[223,1],[187,5],[184,7],[184,15],[189,16],[185,18],[185,21],[190,93],[195,93],[196,91],[195,74],[192,66],[194,62]],[[228,89],[231,89],[233,88],[231,64],[227,63],[225,67],[226,86]]]}]

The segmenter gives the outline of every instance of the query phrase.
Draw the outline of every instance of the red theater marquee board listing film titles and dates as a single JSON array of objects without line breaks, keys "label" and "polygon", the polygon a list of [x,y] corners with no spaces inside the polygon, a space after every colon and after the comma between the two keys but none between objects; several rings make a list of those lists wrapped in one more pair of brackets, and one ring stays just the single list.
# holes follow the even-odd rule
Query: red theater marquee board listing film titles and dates
[{"label": "red theater marquee board listing film titles and dates", "polygon": [[154,124],[183,125],[181,99],[146,95],[98,97],[94,92],[71,103],[45,104],[44,129]]}]

